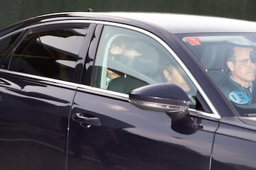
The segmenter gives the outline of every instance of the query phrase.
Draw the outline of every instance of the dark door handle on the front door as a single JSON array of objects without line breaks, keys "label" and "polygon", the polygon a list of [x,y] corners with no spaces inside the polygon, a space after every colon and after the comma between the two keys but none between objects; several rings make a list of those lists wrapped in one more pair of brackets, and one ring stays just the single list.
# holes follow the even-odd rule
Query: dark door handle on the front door
[{"label": "dark door handle on the front door", "polygon": [[82,127],[90,128],[91,125],[94,126],[102,126],[100,118],[85,116],[82,113],[75,113],[75,117],[73,116],[73,120],[79,120],[79,123]]}]

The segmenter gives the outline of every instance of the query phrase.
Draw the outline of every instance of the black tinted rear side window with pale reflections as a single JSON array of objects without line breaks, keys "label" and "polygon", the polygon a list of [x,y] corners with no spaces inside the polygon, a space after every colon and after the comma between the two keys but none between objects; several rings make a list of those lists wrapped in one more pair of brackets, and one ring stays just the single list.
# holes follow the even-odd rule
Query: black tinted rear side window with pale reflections
[{"label": "black tinted rear side window with pale reflections", "polygon": [[9,70],[73,81],[87,28],[60,28],[31,33],[11,56]]}]

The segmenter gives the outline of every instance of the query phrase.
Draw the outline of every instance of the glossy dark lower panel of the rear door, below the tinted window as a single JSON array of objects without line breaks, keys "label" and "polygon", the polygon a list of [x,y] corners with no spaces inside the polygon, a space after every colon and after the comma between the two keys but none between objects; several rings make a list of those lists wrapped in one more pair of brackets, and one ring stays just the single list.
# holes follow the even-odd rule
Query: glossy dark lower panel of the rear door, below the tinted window
[{"label": "glossy dark lower panel of the rear door, below the tinted window", "polygon": [[0,76],[1,169],[65,169],[68,113],[75,91]]}]

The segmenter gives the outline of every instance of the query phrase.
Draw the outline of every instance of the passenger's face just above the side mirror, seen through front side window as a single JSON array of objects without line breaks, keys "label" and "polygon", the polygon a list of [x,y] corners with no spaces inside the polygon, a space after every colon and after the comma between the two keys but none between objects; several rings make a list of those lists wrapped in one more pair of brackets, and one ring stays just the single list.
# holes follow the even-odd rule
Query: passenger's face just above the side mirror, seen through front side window
[{"label": "passenger's face just above the side mirror, seen through front side window", "polygon": [[186,83],[185,79],[181,76],[181,73],[175,67],[169,67],[169,69],[164,69],[164,77],[167,82],[176,84],[181,87],[183,91],[190,91],[190,87]]}]

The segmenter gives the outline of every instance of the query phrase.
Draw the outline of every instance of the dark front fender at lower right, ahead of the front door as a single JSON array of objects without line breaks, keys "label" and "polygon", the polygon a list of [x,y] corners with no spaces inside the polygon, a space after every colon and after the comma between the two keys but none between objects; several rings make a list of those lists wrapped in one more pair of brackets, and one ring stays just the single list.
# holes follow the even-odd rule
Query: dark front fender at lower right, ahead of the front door
[{"label": "dark front fender at lower right, ahead of the front door", "polygon": [[255,118],[222,118],[215,135],[212,169],[255,169],[255,130]]}]

